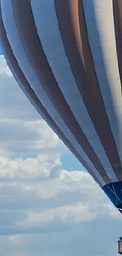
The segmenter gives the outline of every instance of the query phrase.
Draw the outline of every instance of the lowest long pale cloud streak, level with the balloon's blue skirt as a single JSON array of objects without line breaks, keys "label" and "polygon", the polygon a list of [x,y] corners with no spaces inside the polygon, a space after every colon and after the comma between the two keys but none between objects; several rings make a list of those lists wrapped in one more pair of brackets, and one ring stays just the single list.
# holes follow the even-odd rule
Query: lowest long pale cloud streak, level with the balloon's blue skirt
[{"label": "lowest long pale cloud streak, level with the balloon's blue skirt", "polygon": [[90,212],[87,206],[79,202],[52,209],[44,209],[39,212],[29,212],[25,220],[18,221],[16,224],[22,226],[39,226],[54,219],[63,222],[84,222],[91,221],[94,218],[96,218],[96,213]]}]

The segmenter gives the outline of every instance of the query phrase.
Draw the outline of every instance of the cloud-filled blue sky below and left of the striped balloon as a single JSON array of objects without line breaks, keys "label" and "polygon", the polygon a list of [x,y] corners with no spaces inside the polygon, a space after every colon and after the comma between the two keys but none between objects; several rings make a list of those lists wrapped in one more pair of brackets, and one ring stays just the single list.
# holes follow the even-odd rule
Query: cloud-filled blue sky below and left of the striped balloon
[{"label": "cloud-filled blue sky below and left of the striped balloon", "polygon": [[0,255],[117,255],[121,222],[1,55]]}]

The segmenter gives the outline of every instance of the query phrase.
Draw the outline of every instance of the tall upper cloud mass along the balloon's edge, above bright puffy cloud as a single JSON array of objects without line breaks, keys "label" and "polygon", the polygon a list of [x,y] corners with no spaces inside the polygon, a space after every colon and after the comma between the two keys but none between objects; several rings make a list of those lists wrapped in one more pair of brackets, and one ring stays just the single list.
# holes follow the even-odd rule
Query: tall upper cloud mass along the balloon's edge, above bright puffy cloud
[{"label": "tall upper cloud mass along the balloon's edge, above bright puffy cloud", "polygon": [[10,76],[3,56],[0,67],[0,153],[27,157],[68,151]]}]

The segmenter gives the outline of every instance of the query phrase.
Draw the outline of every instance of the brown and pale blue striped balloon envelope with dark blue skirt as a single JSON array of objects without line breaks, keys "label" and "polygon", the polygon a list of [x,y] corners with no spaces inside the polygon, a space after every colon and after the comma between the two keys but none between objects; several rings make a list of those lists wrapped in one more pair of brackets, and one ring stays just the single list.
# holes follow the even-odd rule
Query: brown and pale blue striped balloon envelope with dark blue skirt
[{"label": "brown and pale blue striped balloon envelope with dark blue skirt", "polygon": [[122,1],[1,0],[18,85],[122,211]]}]

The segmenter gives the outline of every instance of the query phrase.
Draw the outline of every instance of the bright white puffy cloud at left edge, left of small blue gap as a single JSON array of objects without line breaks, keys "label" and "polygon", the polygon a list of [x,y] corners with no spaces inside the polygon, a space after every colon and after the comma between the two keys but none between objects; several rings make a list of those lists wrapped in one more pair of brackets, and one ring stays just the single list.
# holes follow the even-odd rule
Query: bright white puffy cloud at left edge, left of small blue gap
[{"label": "bright white puffy cloud at left edge, left of small blue gap", "polygon": [[61,160],[59,158],[54,158],[54,154],[41,154],[36,158],[17,158],[14,160],[1,156],[0,178],[49,177],[51,169],[60,165]]}]

